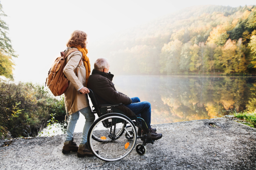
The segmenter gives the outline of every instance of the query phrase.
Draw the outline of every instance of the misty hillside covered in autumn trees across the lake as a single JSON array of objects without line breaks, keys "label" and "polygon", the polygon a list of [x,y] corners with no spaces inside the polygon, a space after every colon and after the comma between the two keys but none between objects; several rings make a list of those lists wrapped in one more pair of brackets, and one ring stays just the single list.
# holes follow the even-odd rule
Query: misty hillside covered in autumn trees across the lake
[{"label": "misty hillside covered in autumn trees across the lake", "polygon": [[114,74],[255,74],[256,6],[185,8],[94,48]]}]

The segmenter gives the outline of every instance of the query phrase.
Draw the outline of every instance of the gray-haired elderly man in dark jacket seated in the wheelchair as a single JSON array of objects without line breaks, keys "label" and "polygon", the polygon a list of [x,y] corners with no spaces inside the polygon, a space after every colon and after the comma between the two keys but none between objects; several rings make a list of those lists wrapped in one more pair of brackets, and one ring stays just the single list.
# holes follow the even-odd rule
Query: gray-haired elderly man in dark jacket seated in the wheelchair
[{"label": "gray-haired elderly man in dark jacket seated in the wheelchair", "polygon": [[[125,94],[116,91],[112,79],[114,77],[109,71],[109,61],[106,58],[98,58],[94,63],[94,69],[88,79],[87,88],[90,88],[100,104],[116,104],[123,103],[124,105],[116,106],[123,111],[126,116],[140,116],[143,118],[151,133],[151,139],[157,140],[162,138],[161,133],[157,133],[155,128],[151,128],[151,105],[149,102],[140,102],[138,97],[129,98]],[[135,113],[135,115],[134,115]],[[138,129],[138,136],[144,134]]]}]

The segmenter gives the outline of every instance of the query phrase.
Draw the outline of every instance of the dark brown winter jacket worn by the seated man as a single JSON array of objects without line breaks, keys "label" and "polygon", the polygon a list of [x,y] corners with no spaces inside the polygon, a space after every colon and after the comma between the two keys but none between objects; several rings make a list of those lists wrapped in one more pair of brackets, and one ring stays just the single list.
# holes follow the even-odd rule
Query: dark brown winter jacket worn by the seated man
[{"label": "dark brown winter jacket worn by the seated man", "polygon": [[[116,91],[114,83],[112,82],[114,75],[105,73],[102,71],[94,70],[88,79],[87,88],[90,88],[99,100],[100,105],[104,104],[118,104],[124,105],[131,104],[131,99]],[[115,106],[119,110],[123,111],[126,116],[135,116],[135,114],[124,105]]]}]

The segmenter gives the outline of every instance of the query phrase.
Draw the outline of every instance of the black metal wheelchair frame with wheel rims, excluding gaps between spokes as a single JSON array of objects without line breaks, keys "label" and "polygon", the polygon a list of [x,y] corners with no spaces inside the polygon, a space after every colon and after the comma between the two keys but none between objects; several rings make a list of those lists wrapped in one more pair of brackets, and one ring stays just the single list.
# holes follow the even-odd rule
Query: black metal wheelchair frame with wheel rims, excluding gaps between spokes
[{"label": "black metal wheelchair frame with wheel rims, excluding gaps between spokes", "polygon": [[[124,158],[125,156],[127,156],[131,150],[133,150],[134,148],[134,144],[136,143],[137,139],[141,139],[142,140],[142,144],[137,144],[136,146],[136,151],[138,154],[140,155],[144,155],[146,153],[146,147],[145,145],[147,143],[151,143],[154,144],[154,141],[151,139],[151,134],[148,130],[148,127],[144,121],[144,119],[134,116],[132,118],[129,118],[127,116],[125,116],[125,113],[123,113],[122,111],[120,111],[119,109],[115,108],[114,106],[118,106],[118,105],[122,105],[122,103],[118,103],[118,104],[107,104],[107,105],[99,105],[99,101],[97,99],[97,97],[95,96],[95,94],[93,93],[92,90],[90,90],[90,93],[88,93],[91,102],[93,104],[93,111],[92,113],[96,113],[99,118],[95,120],[95,122],[93,123],[93,125],[91,125],[89,132],[88,132],[88,136],[87,136],[87,143],[88,143],[88,147],[91,150],[91,152],[99,159],[105,160],[105,161],[116,161],[119,159]],[[110,121],[111,120],[111,121]],[[140,120],[142,122],[142,125],[140,125],[140,122],[138,122],[138,120]],[[130,125],[126,125],[128,122],[128,124]],[[95,130],[95,128],[97,127],[97,125],[101,124],[103,125],[103,127],[105,128],[110,128],[109,130],[109,134],[108,134],[108,139],[104,139],[102,140],[99,137],[96,137],[93,132]],[[119,131],[117,134],[115,134],[116,129],[116,125],[122,123],[122,127],[119,127]],[[137,136],[137,130],[136,127],[140,127],[144,132],[146,132],[145,135],[142,136]],[[128,128],[132,128],[132,130],[128,130]],[[113,131],[113,134],[112,134]],[[129,149],[129,151],[127,153],[125,153],[124,155],[115,158],[115,159],[108,159],[108,158],[104,158],[102,156],[100,156],[100,153],[96,153],[96,151],[93,149],[93,144],[92,144],[92,140],[100,142],[102,144],[104,143],[109,143],[109,142],[114,142],[116,140],[118,140],[123,133],[125,132],[125,138],[128,140],[135,140],[135,142],[133,142],[133,145],[131,146],[131,148]],[[135,136],[135,138],[134,138]],[[126,148],[125,148],[126,149]]]}]

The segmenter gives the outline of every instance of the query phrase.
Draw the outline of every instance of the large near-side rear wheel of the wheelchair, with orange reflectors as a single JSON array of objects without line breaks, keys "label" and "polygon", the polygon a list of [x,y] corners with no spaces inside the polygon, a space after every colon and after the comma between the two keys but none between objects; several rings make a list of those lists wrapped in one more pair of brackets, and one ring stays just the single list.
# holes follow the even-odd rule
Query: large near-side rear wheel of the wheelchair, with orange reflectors
[{"label": "large near-side rear wheel of the wheelchair, with orange reflectors", "polygon": [[[106,120],[112,126],[100,126]],[[120,133],[120,131],[125,130],[125,128],[122,129],[122,123],[131,125],[134,132],[133,136],[135,136],[134,139],[128,141],[125,138],[125,134]],[[101,139],[102,142],[98,142],[93,138]],[[99,117],[91,125],[87,136],[89,149],[97,158],[104,161],[116,161],[124,158],[133,150],[136,140],[137,132],[134,123],[127,116],[119,113],[108,113]],[[99,150],[99,153],[96,153],[96,150]]]}]

